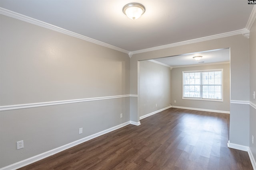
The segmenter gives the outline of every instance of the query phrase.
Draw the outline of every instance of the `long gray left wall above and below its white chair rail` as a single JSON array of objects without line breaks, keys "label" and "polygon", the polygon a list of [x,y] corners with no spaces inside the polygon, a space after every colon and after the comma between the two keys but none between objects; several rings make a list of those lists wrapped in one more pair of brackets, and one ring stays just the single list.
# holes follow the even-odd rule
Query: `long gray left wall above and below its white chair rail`
[{"label": "long gray left wall above and below its white chair rail", "polygon": [[[130,94],[127,54],[3,15],[0,23],[0,106]],[[127,121],[130,97],[1,111],[0,168]]]}]

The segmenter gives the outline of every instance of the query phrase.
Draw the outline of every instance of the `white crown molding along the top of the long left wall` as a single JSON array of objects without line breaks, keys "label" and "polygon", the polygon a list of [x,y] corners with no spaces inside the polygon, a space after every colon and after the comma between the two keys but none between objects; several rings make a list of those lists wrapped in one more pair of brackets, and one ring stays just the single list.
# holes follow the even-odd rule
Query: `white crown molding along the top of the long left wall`
[{"label": "white crown molding along the top of the long left wall", "polygon": [[119,47],[116,47],[114,45],[110,45],[110,44],[107,44],[107,43],[104,43],[104,42],[101,42],[101,41],[98,41],[96,39],[92,39],[90,37],[86,37],[84,35],[80,35],[78,33],[74,33],[72,31],[68,31],[66,29],[63,29],[63,28],[60,28],[60,27],[57,27],[55,25],[52,25],[50,23],[46,23],[46,22],[43,22],[43,21],[40,21],[40,20],[36,20],[34,18],[30,18],[28,16],[24,16],[22,14],[18,14],[16,12],[13,12],[13,11],[10,11],[10,10],[7,10],[5,8],[1,8],[0,7],[0,14],[3,14],[5,16],[9,16],[9,17],[12,17],[12,18],[16,18],[18,20],[22,20],[22,21],[25,21],[25,22],[28,22],[28,23],[32,23],[34,25],[38,25],[40,27],[44,27],[44,28],[47,28],[47,29],[51,29],[53,31],[57,31],[59,33],[63,33],[63,34],[66,34],[66,35],[70,35],[72,37],[76,37],[76,38],[79,38],[79,39],[82,39],[84,41],[88,41],[88,42],[91,42],[91,43],[94,43],[94,44],[98,44],[98,45],[101,45],[103,47],[107,47],[107,48],[110,48],[110,49],[114,49],[116,51],[120,51],[122,53],[126,53],[126,54],[129,54],[130,51],[127,51],[127,50],[124,50],[124,49],[121,49]]}]

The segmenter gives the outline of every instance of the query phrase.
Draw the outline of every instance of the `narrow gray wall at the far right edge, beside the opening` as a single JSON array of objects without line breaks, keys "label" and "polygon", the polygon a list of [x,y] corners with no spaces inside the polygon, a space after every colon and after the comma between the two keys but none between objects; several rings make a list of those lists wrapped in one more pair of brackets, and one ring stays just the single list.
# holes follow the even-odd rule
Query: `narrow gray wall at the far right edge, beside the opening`
[{"label": "narrow gray wall at the far right edge, beside the opening", "polygon": [[[256,99],[252,94],[256,91],[256,20],[250,29],[250,150],[256,160]],[[254,144],[252,144],[252,135]]]}]

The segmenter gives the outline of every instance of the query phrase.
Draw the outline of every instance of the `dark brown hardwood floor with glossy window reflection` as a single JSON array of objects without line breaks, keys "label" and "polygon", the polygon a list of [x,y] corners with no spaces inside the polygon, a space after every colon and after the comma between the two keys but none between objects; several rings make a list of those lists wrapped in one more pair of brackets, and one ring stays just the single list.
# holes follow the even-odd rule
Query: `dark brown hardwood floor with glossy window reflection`
[{"label": "dark brown hardwood floor with glossy window reflection", "polygon": [[229,114],[170,108],[20,170],[253,170],[227,147]]}]

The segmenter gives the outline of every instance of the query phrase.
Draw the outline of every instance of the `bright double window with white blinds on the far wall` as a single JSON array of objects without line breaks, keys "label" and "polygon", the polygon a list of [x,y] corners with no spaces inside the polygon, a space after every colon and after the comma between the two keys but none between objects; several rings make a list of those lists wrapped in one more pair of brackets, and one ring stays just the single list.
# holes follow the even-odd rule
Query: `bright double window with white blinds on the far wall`
[{"label": "bright double window with white blinds on the far wall", "polygon": [[223,70],[183,73],[183,99],[223,101]]}]

